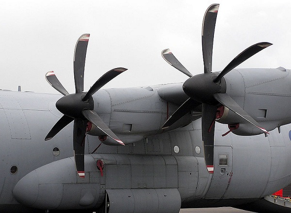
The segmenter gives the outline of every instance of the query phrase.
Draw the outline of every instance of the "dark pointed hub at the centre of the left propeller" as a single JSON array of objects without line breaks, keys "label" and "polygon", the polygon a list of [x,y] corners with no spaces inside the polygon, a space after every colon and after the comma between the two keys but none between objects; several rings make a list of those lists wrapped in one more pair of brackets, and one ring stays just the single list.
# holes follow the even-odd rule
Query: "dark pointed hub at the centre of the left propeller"
[{"label": "dark pointed hub at the centre of the left propeller", "polygon": [[69,117],[83,118],[84,116],[82,115],[82,110],[94,109],[93,98],[90,97],[89,100],[83,101],[83,96],[85,96],[85,93],[74,93],[66,95],[56,102],[56,107],[61,113]]}]

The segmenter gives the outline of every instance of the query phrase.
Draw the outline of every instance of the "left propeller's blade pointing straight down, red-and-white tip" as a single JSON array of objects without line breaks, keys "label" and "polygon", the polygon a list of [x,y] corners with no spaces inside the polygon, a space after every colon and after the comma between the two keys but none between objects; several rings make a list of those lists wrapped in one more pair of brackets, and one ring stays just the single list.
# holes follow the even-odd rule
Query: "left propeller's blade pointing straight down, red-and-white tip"
[{"label": "left propeller's blade pointing straight down, red-and-white tip", "polygon": [[81,118],[74,119],[73,148],[77,172],[85,178],[85,136],[87,123]]}]

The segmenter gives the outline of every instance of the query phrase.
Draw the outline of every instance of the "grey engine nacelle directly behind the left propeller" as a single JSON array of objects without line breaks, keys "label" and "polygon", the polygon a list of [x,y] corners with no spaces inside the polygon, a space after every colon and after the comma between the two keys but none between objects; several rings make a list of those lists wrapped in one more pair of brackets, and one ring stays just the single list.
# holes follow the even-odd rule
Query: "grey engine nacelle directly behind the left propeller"
[{"label": "grey engine nacelle directly behind the left propeller", "polygon": [[[162,101],[156,88],[106,89],[106,91],[112,104],[109,127],[118,133],[118,137],[126,144],[137,142],[145,136],[161,133],[162,124],[178,108]],[[190,117],[190,114],[185,115],[178,124],[167,131],[189,124]],[[124,131],[125,124],[131,125],[130,131]],[[127,137],[127,134],[130,136]]]}]

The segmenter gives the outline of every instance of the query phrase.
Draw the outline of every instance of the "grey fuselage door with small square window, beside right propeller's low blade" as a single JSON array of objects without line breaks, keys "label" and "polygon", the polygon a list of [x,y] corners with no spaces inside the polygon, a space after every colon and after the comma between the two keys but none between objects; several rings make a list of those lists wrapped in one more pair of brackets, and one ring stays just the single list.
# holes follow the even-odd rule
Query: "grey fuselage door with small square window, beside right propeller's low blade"
[{"label": "grey fuselage door with small square window, beside right propeller's low blade", "polygon": [[232,147],[214,146],[214,171],[207,198],[222,199],[231,184]]}]

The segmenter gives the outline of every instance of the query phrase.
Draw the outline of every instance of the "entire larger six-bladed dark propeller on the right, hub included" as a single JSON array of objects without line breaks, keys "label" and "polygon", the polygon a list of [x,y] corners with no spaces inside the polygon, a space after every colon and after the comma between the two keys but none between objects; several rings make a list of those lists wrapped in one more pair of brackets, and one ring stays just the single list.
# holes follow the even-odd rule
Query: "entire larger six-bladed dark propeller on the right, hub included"
[{"label": "entire larger six-bladed dark propeller on the right, hub included", "polygon": [[241,64],[243,61],[252,57],[262,49],[272,45],[271,43],[262,42],[254,44],[235,57],[226,68],[217,76],[212,73],[212,48],[214,28],[218,13],[219,4],[212,4],[207,9],[202,26],[202,52],[204,61],[204,73],[192,75],[186,68],[181,65],[169,49],[162,51],[162,57],[179,71],[185,73],[190,78],[183,84],[184,92],[190,97],[178,110],[165,122],[162,128],[168,128],[185,114],[189,113],[198,105],[202,104],[202,140],[204,142],[204,154],[207,168],[210,173],[213,172],[213,146],[214,146],[214,128],[215,119],[217,118],[217,108],[223,105],[240,115],[246,121],[267,133],[267,130],[260,128],[257,121],[248,115],[227,93],[226,81],[224,76]]}]

